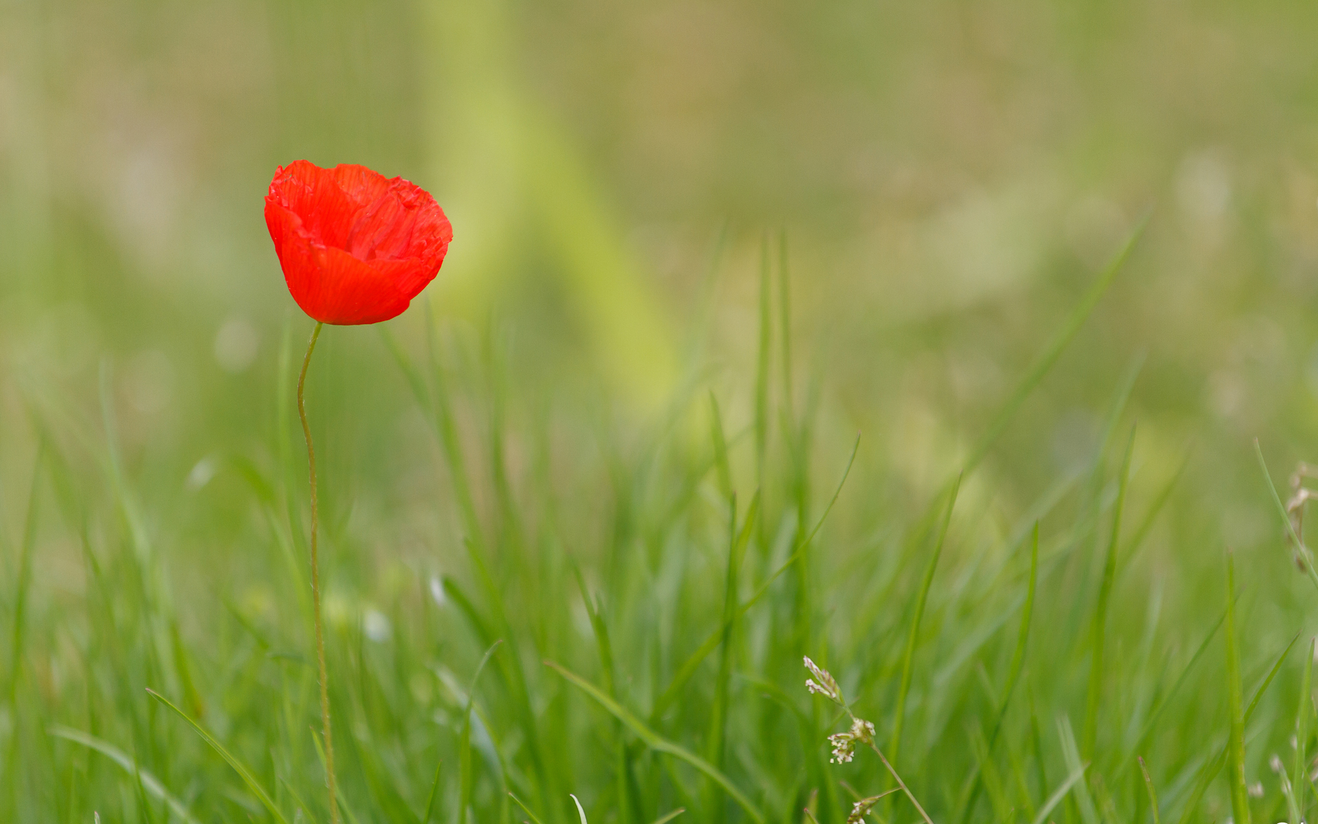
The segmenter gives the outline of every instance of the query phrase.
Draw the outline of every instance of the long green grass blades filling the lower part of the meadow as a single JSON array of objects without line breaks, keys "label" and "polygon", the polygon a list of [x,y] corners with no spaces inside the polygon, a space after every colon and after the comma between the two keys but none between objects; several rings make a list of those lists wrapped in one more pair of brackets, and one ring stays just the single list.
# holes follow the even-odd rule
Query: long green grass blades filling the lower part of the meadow
[{"label": "long green grass blades filling the lower part of the meadow", "polygon": [[[811,701],[803,655],[838,676],[936,823],[1305,809],[1311,653],[1301,666],[1294,639],[1273,649],[1251,630],[1267,592],[1232,585],[1224,618],[1220,599],[1201,601],[1234,580],[1219,550],[1205,550],[1218,560],[1203,583],[1160,580],[1136,556],[1181,476],[1140,500],[1133,431],[1108,454],[1136,370],[1114,390],[1087,483],[1058,477],[1012,512],[969,472],[1000,448],[1097,295],[1021,370],[967,472],[902,509],[853,472],[874,460],[863,436],[847,452],[811,435],[826,430],[788,392],[789,351],[776,345],[791,323],[786,266],[775,283],[764,254],[750,414],[724,411],[746,409],[721,399],[745,389],[734,378],[702,380],[652,425],[571,435],[588,452],[571,471],[555,454],[567,430],[507,377],[493,327],[464,339],[419,309],[424,334],[386,328],[373,380],[409,388],[430,427],[398,464],[430,464],[442,483],[358,513],[332,457],[335,378],[319,377],[344,365],[320,364],[310,407],[331,455],[327,641],[345,820],[569,824],[575,794],[594,824],[796,823],[807,807],[840,823],[891,778],[863,751],[828,762],[826,736],[845,724]],[[108,396],[99,425],[32,398],[42,447],[7,548],[4,820],[328,820],[303,456],[290,447],[289,376],[277,385],[266,448],[233,455],[214,497],[186,505],[206,529],[237,519],[223,523],[241,559],[227,572],[179,567],[187,533],[136,490]],[[812,500],[820,484],[828,501]],[[1127,509],[1144,513],[1128,534]],[[431,526],[399,566],[393,521],[409,513]],[[38,608],[54,581],[45,564],[66,544],[84,595]],[[1294,788],[1251,796],[1297,730]],[[883,802],[871,816],[915,820],[900,795]]]}]

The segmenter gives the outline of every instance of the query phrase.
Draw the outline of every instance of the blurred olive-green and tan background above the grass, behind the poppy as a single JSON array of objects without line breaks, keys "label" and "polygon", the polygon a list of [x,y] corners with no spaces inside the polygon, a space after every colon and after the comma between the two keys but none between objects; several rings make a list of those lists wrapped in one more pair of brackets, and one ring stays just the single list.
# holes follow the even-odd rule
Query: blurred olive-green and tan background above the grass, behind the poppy
[{"label": "blurred olive-green and tan background above the grass, behind the poppy", "polygon": [[20,376],[82,397],[105,357],[148,465],[250,432],[294,312],[260,198],[299,157],[432,190],[457,227],[439,311],[515,316],[529,369],[646,403],[721,233],[716,351],[750,363],[760,236],[784,229],[803,364],[915,483],[1152,210],[1008,483],[1077,452],[1137,352],[1147,436],[1193,438],[1228,497],[1217,461],[1249,436],[1311,435],[1304,4],[3,9],[7,472]]}]

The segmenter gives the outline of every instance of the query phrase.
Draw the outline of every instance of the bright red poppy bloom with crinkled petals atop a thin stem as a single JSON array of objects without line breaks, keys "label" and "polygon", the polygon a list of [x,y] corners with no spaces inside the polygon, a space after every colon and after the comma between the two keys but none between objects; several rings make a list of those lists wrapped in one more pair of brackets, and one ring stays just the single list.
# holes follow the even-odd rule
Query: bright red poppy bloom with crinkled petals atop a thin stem
[{"label": "bright red poppy bloom with crinkled petals atop a thin stem", "polygon": [[340,326],[402,314],[435,278],[453,239],[426,190],[353,163],[279,167],[265,223],[293,299]]}]

